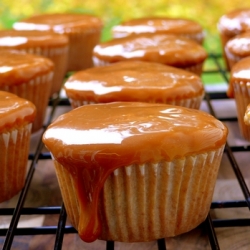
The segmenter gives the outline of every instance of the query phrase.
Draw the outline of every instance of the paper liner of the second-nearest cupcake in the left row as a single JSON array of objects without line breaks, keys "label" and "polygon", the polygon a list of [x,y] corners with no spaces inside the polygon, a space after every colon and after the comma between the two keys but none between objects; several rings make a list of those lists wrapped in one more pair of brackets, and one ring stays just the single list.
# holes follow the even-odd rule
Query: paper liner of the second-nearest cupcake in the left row
[{"label": "paper liner of the second-nearest cupcake in the left row", "polygon": [[43,126],[46,109],[49,101],[53,72],[37,76],[33,80],[12,86],[3,86],[1,90],[16,94],[19,97],[31,101],[37,109],[37,115],[33,122],[32,132],[38,131]]}]

